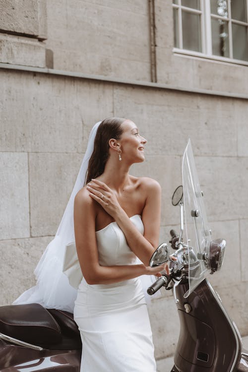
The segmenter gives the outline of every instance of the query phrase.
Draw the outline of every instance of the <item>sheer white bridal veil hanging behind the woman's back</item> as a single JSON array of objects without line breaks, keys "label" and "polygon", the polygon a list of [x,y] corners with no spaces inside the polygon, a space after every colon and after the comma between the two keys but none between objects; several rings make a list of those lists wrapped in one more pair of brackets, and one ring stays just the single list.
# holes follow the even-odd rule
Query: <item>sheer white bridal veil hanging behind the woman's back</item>
[{"label": "sheer white bridal veil hanging behind the woman's back", "polygon": [[[75,242],[73,207],[76,193],[84,186],[88,163],[93,152],[95,135],[101,122],[91,129],[87,149],[83,157],[75,185],[64,210],[62,220],[55,235],[38,262],[34,274],[36,285],[23,292],[12,305],[38,303],[47,309],[73,312],[77,289],[73,288],[63,272],[66,245]],[[137,258],[137,263],[141,261]],[[153,275],[140,276],[146,302],[150,302],[146,289],[157,279]]]}]

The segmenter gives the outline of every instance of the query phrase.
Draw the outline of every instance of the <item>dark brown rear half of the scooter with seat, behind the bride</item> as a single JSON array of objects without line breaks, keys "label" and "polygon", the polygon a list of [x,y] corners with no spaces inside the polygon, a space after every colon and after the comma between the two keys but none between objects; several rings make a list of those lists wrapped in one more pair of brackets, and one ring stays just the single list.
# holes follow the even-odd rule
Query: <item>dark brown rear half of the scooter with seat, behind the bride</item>
[{"label": "dark brown rear half of the scooter with seat, behind the bride", "polygon": [[70,312],[39,304],[2,306],[0,332],[1,372],[80,370],[81,337]]}]

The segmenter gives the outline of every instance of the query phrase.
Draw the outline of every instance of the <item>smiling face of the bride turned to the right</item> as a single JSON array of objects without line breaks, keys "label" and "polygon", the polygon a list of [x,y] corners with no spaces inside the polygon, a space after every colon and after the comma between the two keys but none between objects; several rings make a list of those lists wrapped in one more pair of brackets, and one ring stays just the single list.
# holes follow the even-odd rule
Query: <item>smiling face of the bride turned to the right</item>
[{"label": "smiling face of the bride turned to the right", "polygon": [[123,133],[118,141],[121,145],[122,158],[130,163],[143,162],[144,145],[147,142],[144,137],[139,134],[137,125],[131,120],[125,120],[122,124]]}]

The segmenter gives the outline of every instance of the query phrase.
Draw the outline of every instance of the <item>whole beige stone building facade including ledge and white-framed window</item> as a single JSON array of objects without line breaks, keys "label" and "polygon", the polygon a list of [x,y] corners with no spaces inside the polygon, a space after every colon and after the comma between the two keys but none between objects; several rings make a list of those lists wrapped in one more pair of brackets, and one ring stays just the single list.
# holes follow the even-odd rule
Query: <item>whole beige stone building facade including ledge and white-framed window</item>
[{"label": "whole beige stone building facade including ledge and white-framed window", "polygon": [[[241,0],[0,0],[1,305],[34,285],[93,124],[134,121],[146,161],[131,173],[162,186],[161,243],[188,137],[214,238],[209,279],[248,334],[248,4]],[[149,306],[157,359],[172,355],[171,293]]]}]

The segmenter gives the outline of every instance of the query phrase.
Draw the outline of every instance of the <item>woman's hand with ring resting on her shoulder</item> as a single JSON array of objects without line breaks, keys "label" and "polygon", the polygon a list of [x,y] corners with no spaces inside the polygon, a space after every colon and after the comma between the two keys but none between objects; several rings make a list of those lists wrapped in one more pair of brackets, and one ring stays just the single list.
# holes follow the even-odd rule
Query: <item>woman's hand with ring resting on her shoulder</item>
[{"label": "woman's hand with ring resting on her shoulder", "polygon": [[92,199],[96,200],[105,211],[115,218],[117,212],[122,209],[115,192],[104,182],[92,179],[86,186]]}]

